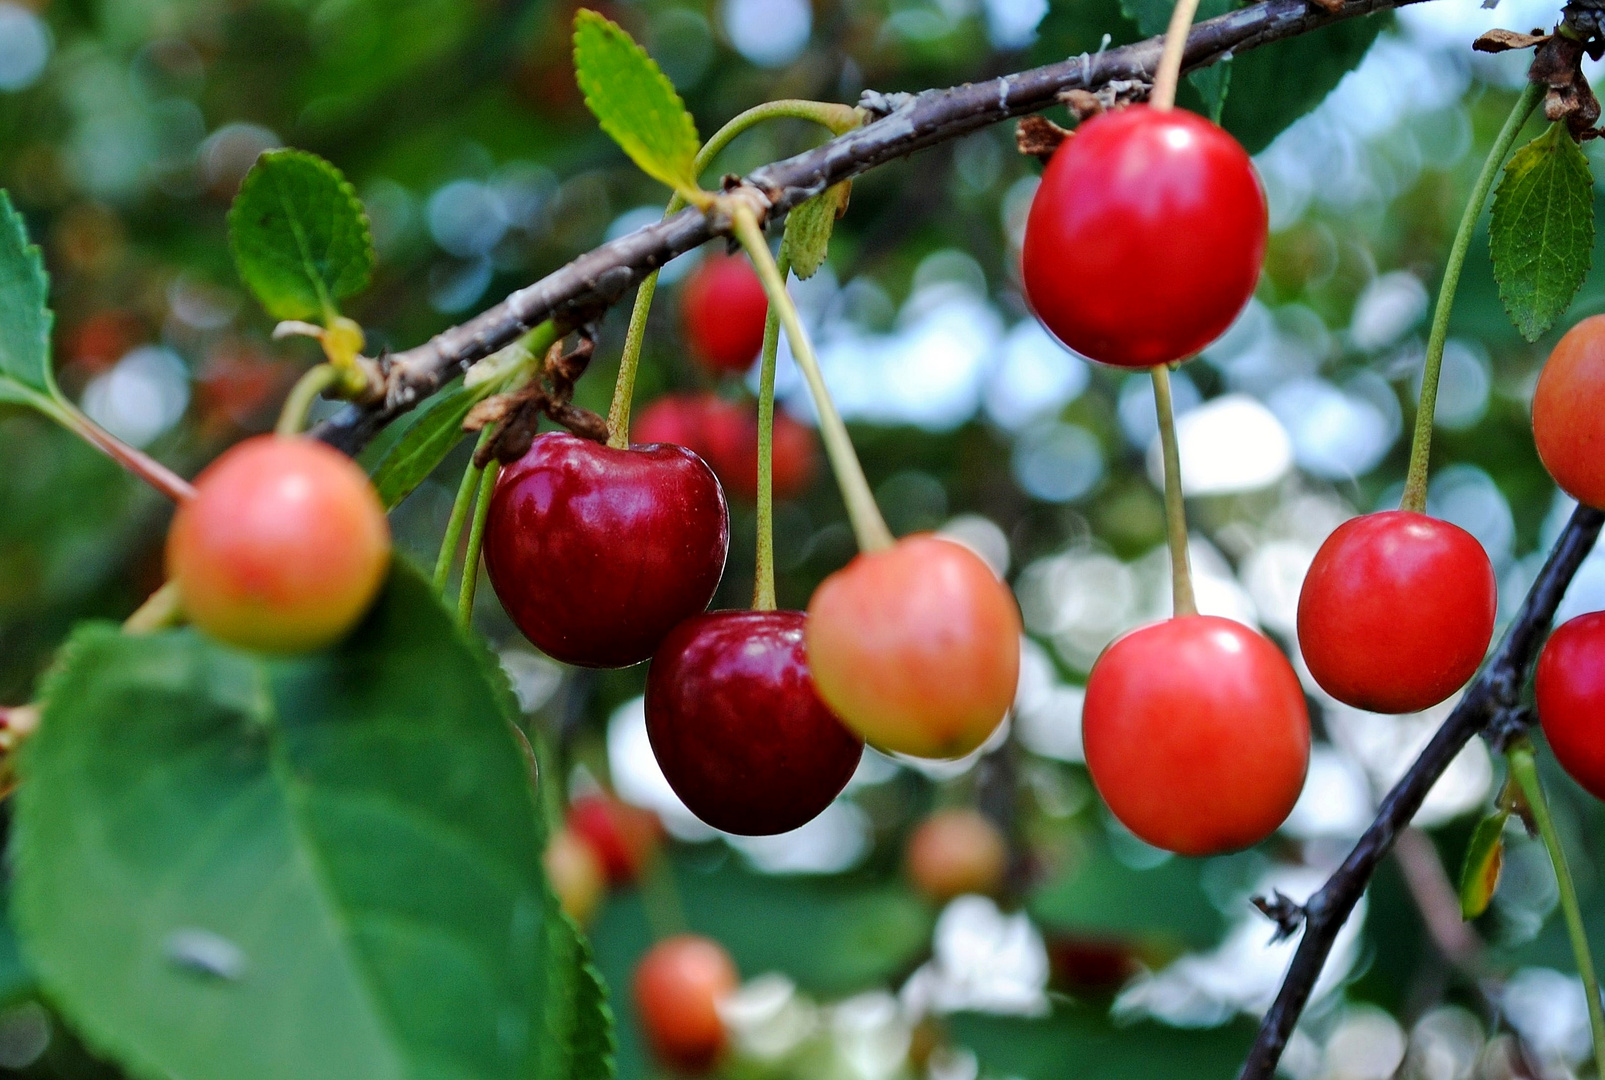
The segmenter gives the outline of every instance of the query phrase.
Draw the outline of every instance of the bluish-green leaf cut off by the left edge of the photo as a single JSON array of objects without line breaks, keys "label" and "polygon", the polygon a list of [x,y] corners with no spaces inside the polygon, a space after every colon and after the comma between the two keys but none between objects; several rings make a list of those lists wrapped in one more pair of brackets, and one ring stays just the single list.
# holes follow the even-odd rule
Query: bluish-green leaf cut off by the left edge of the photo
[{"label": "bluish-green leaf cut off by the left edge of the photo", "polygon": [[61,398],[50,371],[48,292],[45,260],[0,189],[0,401],[37,408]]}]

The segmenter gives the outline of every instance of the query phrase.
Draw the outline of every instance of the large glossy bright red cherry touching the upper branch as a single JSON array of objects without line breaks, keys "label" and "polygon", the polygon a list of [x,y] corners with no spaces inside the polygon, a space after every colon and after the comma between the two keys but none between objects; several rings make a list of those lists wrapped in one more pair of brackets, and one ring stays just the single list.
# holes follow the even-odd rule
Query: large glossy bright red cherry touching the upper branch
[{"label": "large glossy bright red cherry touching the upper branch", "polygon": [[1168,364],[1249,303],[1266,231],[1265,189],[1231,135],[1181,109],[1104,112],[1042,175],[1026,221],[1026,294],[1083,356]]}]

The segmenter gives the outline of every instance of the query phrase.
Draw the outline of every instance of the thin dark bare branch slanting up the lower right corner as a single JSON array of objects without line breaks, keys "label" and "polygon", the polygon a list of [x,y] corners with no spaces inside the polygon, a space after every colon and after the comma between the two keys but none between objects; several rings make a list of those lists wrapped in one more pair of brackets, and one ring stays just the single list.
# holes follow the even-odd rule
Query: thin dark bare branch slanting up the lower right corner
[{"label": "thin dark bare branch slanting up the lower right corner", "polygon": [[1303,921],[1303,939],[1294,952],[1276,1001],[1260,1022],[1260,1033],[1249,1050],[1242,1072],[1237,1074],[1239,1080],[1271,1080],[1276,1074],[1276,1062],[1281,1061],[1287,1037],[1292,1035],[1298,1016],[1310,1001],[1310,992],[1321,977],[1321,968],[1332,952],[1337,931],[1348,921],[1377,865],[1416,817],[1432,785],[1454,756],[1473,735],[1502,743],[1510,738],[1512,729],[1530,722],[1531,717],[1522,709],[1522,690],[1555,618],[1555,608],[1560,607],[1560,599],[1566,594],[1578,566],[1594,549],[1602,523],[1605,514],[1578,507],[1555,541],[1554,550],[1549,552],[1549,560],[1526,594],[1510,629],[1505,631],[1504,640],[1499,642],[1494,658],[1472,680],[1465,696],[1416,757],[1409,772],[1382,799],[1377,818],[1348,852],[1348,859],[1302,908],[1278,912],[1284,931],[1290,932],[1297,929],[1300,920]]}]

